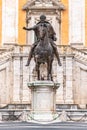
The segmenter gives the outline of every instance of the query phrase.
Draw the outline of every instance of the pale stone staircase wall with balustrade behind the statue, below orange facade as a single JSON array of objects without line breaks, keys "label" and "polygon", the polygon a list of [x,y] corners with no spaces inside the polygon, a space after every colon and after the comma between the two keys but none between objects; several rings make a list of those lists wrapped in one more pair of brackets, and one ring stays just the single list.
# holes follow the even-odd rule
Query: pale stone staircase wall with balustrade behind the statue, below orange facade
[{"label": "pale stone staircase wall with balustrade behind the statue, below orange facade", "polygon": [[[9,48],[2,50],[0,55],[0,107],[7,104],[30,104],[31,91],[27,83],[37,78],[34,59],[29,67],[25,66],[30,46],[16,45]],[[62,67],[58,66],[55,58],[52,69],[54,81],[60,83],[56,103],[86,107],[86,56],[69,46],[58,46],[58,51]]]}]

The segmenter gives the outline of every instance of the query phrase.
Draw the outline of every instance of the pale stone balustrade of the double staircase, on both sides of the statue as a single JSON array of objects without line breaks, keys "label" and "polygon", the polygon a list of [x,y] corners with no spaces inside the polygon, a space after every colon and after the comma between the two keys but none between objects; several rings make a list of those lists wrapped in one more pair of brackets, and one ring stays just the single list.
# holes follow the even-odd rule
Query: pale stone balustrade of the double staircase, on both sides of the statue
[{"label": "pale stone balustrade of the double staircase, on both sides of the statue", "polygon": [[[28,56],[31,45],[9,45],[0,48],[0,60],[3,57]],[[57,45],[60,56],[74,55],[82,60],[87,60],[87,52],[84,49],[77,49],[70,45]]]}]

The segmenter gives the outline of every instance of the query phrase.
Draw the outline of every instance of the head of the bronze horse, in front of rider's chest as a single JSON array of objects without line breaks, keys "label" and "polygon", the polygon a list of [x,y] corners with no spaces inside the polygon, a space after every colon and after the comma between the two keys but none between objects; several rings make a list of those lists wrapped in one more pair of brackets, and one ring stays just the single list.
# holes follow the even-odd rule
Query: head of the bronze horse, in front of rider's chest
[{"label": "head of the bronze horse, in front of rider's chest", "polygon": [[41,24],[38,26],[38,36],[41,40],[45,38],[47,34],[47,26],[45,24]]}]

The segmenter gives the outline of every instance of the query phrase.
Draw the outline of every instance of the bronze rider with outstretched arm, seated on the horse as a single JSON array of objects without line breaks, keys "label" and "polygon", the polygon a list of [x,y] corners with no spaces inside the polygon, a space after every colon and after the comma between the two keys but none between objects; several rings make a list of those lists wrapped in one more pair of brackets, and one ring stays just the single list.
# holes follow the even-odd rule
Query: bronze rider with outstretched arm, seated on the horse
[{"label": "bronze rider with outstretched arm, seated on the horse", "polygon": [[51,46],[53,47],[54,53],[55,53],[56,58],[57,58],[57,60],[58,60],[58,64],[59,64],[59,66],[61,66],[61,62],[60,62],[60,58],[59,58],[59,53],[58,53],[58,51],[57,51],[57,46],[56,46],[56,44],[54,43],[54,41],[57,40],[57,38],[56,38],[56,33],[55,33],[53,27],[51,26],[51,24],[50,24],[48,21],[46,21],[46,16],[45,16],[45,15],[41,15],[41,16],[40,16],[40,21],[39,21],[34,27],[32,27],[32,28],[23,27],[23,29],[28,30],[28,31],[33,30],[33,31],[35,32],[36,37],[37,37],[37,41],[36,41],[36,42],[32,45],[32,47],[31,47],[31,50],[30,50],[30,53],[29,53],[29,57],[28,57],[28,61],[27,61],[26,66],[29,66],[30,60],[31,60],[31,58],[33,57],[33,51],[34,51],[35,47],[36,47],[37,44],[38,44],[39,36],[38,36],[38,29],[37,29],[37,28],[38,28],[38,26],[40,26],[41,24],[46,25],[47,28],[48,28],[48,35],[49,35],[49,39],[50,39],[50,44],[51,44]]}]

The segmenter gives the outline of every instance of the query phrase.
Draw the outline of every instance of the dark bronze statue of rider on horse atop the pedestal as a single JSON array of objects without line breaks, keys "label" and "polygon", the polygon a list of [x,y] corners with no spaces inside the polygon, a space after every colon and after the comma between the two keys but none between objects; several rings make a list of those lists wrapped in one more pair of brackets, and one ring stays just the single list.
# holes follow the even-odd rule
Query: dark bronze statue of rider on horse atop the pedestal
[{"label": "dark bronze statue of rider on horse atop the pedestal", "polygon": [[47,63],[47,80],[53,80],[52,62],[54,60],[54,55],[57,58],[59,66],[61,66],[61,62],[57,46],[54,43],[57,38],[52,25],[46,20],[45,15],[41,15],[40,21],[35,26],[31,28],[23,27],[23,29],[28,31],[33,30],[37,39],[31,46],[26,66],[29,66],[31,58],[34,57],[38,80],[41,80],[40,64]]}]

